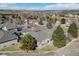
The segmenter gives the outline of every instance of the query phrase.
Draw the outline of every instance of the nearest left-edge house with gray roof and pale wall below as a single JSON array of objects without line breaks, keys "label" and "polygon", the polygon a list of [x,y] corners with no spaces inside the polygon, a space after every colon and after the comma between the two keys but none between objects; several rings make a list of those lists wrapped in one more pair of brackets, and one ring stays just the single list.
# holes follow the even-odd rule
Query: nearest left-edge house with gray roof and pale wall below
[{"label": "nearest left-edge house with gray roof and pale wall below", "polygon": [[0,30],[0,48],[16,44],[18,37],[9,31]]}]

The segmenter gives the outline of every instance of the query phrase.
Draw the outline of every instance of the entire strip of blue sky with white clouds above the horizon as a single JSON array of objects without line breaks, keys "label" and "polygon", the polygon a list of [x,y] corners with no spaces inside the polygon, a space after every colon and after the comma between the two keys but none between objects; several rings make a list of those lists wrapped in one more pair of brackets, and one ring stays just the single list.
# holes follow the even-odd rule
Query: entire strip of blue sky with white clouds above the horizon
[{"label": "entire strip of blue sky with white clouds above the horizon", "polygon": [[74,10],[78,3],[0,3],[0,9],[12,10]]}]

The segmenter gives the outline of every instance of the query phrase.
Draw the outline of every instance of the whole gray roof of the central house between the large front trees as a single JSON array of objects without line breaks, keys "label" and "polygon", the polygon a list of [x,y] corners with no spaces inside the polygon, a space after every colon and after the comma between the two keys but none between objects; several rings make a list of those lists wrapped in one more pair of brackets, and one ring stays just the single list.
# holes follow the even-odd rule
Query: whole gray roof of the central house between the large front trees
[{"label": "whole gray roof of the central house between the large front trees", "polygon": [[47,29],[44,27],[40,27],[40,28],[37,28],[34,30],[25,29],[23,32],[28,32],[29,34],[34,36],[38,42],[42,42],[46,39],[51,39],[51,35],[52,35],[53,30]]}]

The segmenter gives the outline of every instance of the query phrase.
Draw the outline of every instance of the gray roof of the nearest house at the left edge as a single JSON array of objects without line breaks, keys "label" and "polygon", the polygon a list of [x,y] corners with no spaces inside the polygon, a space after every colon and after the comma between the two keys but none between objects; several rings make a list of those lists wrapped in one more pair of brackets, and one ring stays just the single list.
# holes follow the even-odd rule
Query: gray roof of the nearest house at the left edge
[{"label": "gray roof of the nearest house at the left edge", "polygon": [[15,39],[17,39],[17,36],[15,34],[9,31],[0,30],[0,44]]}]

